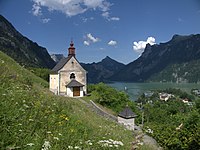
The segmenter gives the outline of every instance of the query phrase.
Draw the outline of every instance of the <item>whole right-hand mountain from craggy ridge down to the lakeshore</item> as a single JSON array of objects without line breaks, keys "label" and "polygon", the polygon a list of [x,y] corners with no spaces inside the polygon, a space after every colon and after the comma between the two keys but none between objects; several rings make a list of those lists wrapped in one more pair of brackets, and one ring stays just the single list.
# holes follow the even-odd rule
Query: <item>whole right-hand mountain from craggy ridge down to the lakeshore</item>
[{"label": "whole right-hand mountain from craggy ridge down to the lakeshore", "polygon": [[[174,35],[169,42],[152,46],[147,44],[144,52],[137,60],[126,65],[110,79],[127,82],[144,82],[147,80],[195,82],[200,80],[199,62],[200,34]],[[170,73],[165,69],[171,70]],[[180,73],[182,74],[181,77],[178,76]],[[192,81],[191,78],[195,78],[195,80]]]}]

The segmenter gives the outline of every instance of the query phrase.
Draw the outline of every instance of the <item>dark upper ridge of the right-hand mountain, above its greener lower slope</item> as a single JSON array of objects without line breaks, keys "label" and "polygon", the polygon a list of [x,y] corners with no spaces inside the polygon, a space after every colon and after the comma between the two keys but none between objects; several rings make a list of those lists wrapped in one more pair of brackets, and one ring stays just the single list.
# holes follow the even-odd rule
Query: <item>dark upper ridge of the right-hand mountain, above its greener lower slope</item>
[{"label": "dark upper ridge of the right-hand mountain, above its greener lower slope", "polygon": [[145,82],[170,64],[200,59],[200,34],[174,35],[169,42],[147,44],[142,55],[127,64],[110,79],[114,81]]}]

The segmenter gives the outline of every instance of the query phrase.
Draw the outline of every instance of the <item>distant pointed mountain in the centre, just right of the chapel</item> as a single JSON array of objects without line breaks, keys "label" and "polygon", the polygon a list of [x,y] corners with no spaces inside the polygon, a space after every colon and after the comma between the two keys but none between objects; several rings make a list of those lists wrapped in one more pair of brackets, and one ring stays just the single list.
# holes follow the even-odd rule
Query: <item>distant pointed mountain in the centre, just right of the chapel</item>
[{"label": "distant pointed mountain in the centre, just right of the chapel", "polygon": [[89,83],[107,82],[111,76],[125,66],[108,56],[101,62],[91,64],[81,63],[81,65],[88,72],[87,77]]}]

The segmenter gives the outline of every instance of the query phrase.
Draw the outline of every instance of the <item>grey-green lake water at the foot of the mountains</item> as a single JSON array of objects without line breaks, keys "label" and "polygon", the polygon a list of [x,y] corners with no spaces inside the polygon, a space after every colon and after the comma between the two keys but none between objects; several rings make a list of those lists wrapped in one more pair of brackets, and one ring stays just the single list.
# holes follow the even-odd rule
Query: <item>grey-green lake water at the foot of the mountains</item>
[{"label": "grey-green lake water at the foot of the mountains", "polygon": [[144,92],[158,89],[176,88],[190,93],[191,89],[200,89],[200,84],[195,83],[124,83],[114,82],[108,84],[117,90],[125,91],[130,96],[130,99],[136,100],[139,95]]}]

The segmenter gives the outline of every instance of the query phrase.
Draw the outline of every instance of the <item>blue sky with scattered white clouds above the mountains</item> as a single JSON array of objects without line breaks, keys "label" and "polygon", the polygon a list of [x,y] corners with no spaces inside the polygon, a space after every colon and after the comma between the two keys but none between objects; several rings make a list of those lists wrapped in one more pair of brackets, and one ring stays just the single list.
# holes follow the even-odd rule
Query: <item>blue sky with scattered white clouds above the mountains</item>
[{"label": "blue sky with scattered white clouds above the mountains", "polygon": [[136,60],[147,43],[200,33],[200,0],[0,0],[0,14],[50,54]]}]

